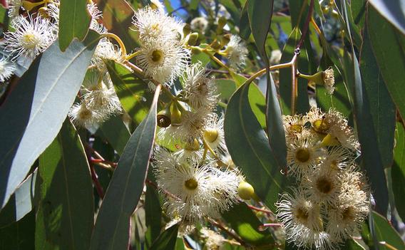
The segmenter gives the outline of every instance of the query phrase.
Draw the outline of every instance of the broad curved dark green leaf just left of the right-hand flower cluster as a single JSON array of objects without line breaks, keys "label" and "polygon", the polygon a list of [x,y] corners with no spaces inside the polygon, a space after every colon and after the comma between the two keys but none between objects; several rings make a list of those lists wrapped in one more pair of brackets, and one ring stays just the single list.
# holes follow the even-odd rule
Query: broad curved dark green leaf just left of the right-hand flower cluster
[{"label": "broad curved dark green leaf just left of the right-hand flower cluster", "polygon": [[230,98],[225,113],[225,142],[232,160],[257,195],[276,209],[275,202],[287,179],[280,173],[266,133],[250,108],[248,90],[249,85],[242,85]]}]

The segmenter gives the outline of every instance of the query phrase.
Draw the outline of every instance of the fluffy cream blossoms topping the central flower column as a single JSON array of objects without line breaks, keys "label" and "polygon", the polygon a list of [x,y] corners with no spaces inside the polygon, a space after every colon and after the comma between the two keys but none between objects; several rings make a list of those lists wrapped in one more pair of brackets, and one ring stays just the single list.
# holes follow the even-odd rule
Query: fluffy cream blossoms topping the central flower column
[{"label": "fluffy cream blossoms topping the central flower column", "polygon": [[146,7],[135,12],[133,25],[141,43],[138,65],[152,80],[172,85],[190,58],[190,51],[184,46],[184,24],[161,9]]}]

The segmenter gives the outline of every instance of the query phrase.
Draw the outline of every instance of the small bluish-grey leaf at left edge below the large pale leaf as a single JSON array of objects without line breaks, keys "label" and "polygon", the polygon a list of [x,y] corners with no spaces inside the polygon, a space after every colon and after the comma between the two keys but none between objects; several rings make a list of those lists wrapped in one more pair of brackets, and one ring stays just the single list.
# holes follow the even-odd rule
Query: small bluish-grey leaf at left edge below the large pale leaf
[{"label": "small bluish-grey leaf at left edge below the large pale leaf", "polygon": [[11,195],[9,202],[0,212],[0,227],[6,226],[31,212],[34,207],[34,193],[36,185],[36,170],[27,177]]}]

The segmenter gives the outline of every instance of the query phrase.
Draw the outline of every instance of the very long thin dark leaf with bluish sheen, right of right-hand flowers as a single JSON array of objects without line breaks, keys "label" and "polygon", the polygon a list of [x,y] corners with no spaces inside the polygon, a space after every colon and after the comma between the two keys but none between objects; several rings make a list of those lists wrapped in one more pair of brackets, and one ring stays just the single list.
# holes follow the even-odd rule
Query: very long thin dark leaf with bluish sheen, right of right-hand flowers
[{"label": "very long thin dark leaf with bluish sheen, right of right-hand flowers", "polygon": [[[343,4],[344,17],[347,21],[347,8]],[[349,29],[349,21],[347,21]],[[352,41],[350,33],[348,34]],[[353,96],[354,120],[357,124],[357,133],[362,147],[362,166],[371,182],[371,189],[376,200],[376,211],[386,214],[388,209],[388,187],[381,155],[379,154],[378,140],[371,116],[369,97],[366,94],[365,85],[362,83],[359,61],[354,53],[353,43],[351,44],[352,55],[344,53],[344,72],[347,74],[347,81],[350,84]]]}]

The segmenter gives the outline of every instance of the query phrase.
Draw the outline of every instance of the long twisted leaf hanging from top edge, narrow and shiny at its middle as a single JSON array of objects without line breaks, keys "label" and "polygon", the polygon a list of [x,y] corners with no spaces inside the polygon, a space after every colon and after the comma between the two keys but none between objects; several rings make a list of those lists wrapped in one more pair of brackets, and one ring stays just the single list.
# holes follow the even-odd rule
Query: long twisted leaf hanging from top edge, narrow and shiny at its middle
[{"label": "long twisted leaf hanging from top edge, narrow and shiny at its middle", "polygon": [[277,99],[275,83],[270,74],[269,60],[265,49],[267,33],[272,22],[273,1],[251,0],[248,4],[247,14],[257,50],[260,52],[260,56],[266,67],[266,125],[270,150],[273,152],[277,165],[285,167],[287,165],[287,147],[285,145],[284,127],[282,125],[282,113],[279,100]]}]

